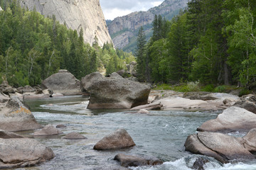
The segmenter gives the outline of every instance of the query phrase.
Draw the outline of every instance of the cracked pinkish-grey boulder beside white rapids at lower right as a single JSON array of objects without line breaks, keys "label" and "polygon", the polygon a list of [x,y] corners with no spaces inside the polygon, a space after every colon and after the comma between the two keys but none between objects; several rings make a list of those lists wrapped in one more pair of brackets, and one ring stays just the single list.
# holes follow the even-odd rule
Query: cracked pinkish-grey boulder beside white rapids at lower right
[{"label": "cracked pinkish-grey boulder beside white rapids at lower right", "polygon": [[188,136],[185,142],[186,151],[214,157],[219,162],[232,160],[255,159],[243,145],[242,139],[218,132],[199,132]]}]

